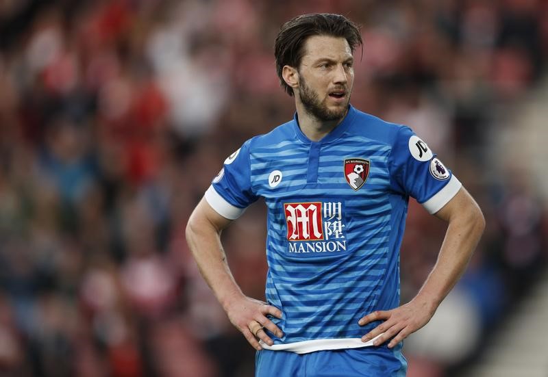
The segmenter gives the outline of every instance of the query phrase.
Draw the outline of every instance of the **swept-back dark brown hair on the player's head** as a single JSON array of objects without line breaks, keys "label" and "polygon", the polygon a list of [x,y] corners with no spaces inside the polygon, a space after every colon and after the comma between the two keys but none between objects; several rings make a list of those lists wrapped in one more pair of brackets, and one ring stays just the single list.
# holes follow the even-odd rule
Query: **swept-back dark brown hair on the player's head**
[{"label": "swept-back dark brown hair on the player's head", "polygon": [[274,57],[279,81],[282,88],[290,96],[293,95],[293,89],[284,81],[282,69],[286,65],[299,68],[304,54],[304,43],[310,36],[345,38],[352,53],[356,46],[362,44],[362,36],[358,25],[340,14],[302,14],[284,23],[276,36]]}]

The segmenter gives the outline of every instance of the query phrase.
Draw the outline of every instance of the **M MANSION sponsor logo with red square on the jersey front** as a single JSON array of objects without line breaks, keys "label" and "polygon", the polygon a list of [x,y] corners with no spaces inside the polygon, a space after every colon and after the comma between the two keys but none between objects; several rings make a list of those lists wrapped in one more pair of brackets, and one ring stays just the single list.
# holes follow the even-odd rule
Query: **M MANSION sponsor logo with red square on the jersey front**
[{"label": "M MANSION sponsor logo with red square on the jersey front", "polygon": [[289,252],[347,250],[340,202],[285,203]]}]

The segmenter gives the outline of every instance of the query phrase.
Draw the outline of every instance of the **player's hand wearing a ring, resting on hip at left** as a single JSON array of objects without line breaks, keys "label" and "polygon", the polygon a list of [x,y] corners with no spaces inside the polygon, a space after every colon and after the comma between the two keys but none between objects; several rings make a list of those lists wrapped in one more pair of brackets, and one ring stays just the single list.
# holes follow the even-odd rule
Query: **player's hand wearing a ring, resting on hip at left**
[{"label": "player's hand wearing a ring, resting on hip at left", "polygon": [[242,296],[241,298],[232,300],[225,308],[225,311],[230,322],[242,332],[245,339],[249,341],[249,344],[258,351],[262,350],[259,344],[260,340],[269,346],[274,344],[271,337],[266,335],[264,328],[277,337],[284,335],[282,330],[266,317],[266,315],[270,314],[274,317],[282,318],[282,311],[266,304],[266,302]]}]

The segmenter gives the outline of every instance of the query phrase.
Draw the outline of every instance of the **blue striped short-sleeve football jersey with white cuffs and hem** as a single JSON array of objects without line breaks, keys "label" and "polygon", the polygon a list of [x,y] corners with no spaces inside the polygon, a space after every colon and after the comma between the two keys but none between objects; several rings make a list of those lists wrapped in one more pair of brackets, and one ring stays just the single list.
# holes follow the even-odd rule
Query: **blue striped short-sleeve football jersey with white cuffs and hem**
[{"label": "blue striped short-sleeve football jersey with white cuffs and hem", "polygon": [[[297,116],[247,140],[225,160],[206,200],[236,219],[264,198],[266,299],[282,310],[273,321],[284,332],[269,335],[275,345],[305,344],[310,352],[352,347],[375,326],[359,326],[360,317],[399,305],[409,197],[435,213],[460,187],[410,128],[350,106],[319,142],[301,132]],[[326,346],[334,339],[339,346]]]}]

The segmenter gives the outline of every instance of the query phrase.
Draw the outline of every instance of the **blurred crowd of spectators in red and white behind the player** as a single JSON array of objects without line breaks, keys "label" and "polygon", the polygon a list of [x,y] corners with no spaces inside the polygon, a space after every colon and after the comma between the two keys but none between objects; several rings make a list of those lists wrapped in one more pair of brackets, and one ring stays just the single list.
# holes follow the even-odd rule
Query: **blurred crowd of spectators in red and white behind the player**
[{"label": "blurred crowd of spectators in red and white behind the player", "polygon": [[[362,25],[353,105],[412,127],[484,210],[448,298],[459,311],[439,313],[467,336],[404,348],[410,376],[472,361],[547,259],[547,207],[519,164],[497,170],[488,155],[505,109],[546,73],[547,2],[21,0],[0,2],[1,376],[253,375],[184,227],[225,157],[295,111],[273,41],[306,12]],[[223,234],[255,298],[264,216],[253,205]],[[410,203],[402,300],[444,231]]]}]

